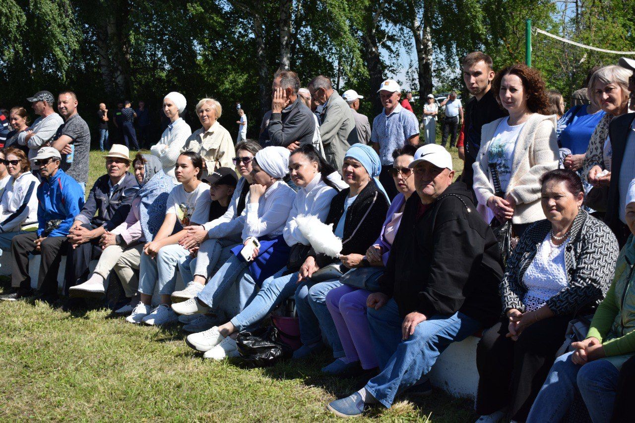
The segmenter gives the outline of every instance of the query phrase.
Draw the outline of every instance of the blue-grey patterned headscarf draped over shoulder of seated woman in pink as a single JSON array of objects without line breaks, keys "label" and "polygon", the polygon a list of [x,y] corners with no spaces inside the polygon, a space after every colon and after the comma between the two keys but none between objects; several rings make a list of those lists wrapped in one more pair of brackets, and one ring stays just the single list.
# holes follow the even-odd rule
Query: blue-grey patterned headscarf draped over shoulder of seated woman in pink
[{"label": "blue-grey patterned headscarf draped over shoulder of seated woman in pink", "polygon": [[[144,154],[143,157],[147,162],[144,165],[144,185],[137,194],[141,197],[139,221],[145,241],[150,242],[163,225],[168,197],[176,185],[174,179],[163,172],[163,166],[158,157],[151,154]],[[150,178],[148,179],[147,176]],[[175,231],[181,229],[180,225],[177,221]]]}]

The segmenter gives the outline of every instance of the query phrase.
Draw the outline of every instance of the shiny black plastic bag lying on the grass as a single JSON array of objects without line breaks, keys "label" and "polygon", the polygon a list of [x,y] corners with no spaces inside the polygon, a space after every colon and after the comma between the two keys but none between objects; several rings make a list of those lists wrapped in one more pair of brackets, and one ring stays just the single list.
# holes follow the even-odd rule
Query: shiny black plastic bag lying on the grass
[{"label": "shiny black plastic bag lying on the grass", "polygon": [[243,330],[236,337],[236,344],[246,367],[269,367],[293,355],[293,349],[279,340],[278,330],[273,326]]}]

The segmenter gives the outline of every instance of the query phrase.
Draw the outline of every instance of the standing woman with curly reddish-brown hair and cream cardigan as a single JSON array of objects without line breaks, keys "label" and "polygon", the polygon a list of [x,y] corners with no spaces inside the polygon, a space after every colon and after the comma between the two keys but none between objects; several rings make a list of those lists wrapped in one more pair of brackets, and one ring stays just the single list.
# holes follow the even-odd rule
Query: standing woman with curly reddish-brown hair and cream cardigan
[{"label": "standing woman with curly reddish-brown hair and cream cardigan", "polygon": [[492,89],[509,112],[483,126],[474,169],[478,211],[487,221],[512,221],[521,236],[544,219],[540,177],[558,167],[556,116],[549,115],[545,82],[534,68],[511,65],[497,72]]}]

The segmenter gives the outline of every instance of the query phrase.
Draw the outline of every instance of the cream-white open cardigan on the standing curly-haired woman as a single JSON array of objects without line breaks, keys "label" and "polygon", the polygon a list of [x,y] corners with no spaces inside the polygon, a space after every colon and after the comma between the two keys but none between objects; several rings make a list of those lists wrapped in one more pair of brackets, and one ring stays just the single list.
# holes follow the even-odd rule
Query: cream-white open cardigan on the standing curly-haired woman
[{"label": "cream-white open cardigan on the standing curly-haired woman", "polygon": [[[485,218],[487,200],[494,195],[494,186],[489,171],[489,150],[498,124],[507,116],[494,120],[481,129],[481,149],[474,169],[474,192],[478,200],[477,209]],[[512,171],[506,195],[516,200],[512,223],[531,223],[545,218],[540,205],[540,177],[558,168],[558,138],[556,115],[533,114],[518,134]]]}]

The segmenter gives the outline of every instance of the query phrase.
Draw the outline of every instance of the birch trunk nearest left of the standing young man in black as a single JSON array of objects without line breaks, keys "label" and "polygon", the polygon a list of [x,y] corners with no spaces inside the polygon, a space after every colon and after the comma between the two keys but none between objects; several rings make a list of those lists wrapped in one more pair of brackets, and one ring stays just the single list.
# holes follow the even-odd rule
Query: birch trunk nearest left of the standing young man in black
[{"label": "birch trunk nearest left of the standing young man in black", "polygon": [[418,19],[413,1],[409,3],[412,16],[410,30],[415,38],[415,49],[417,50],[419,98],[420,101],[424,102],[424,97],[432,93],[432,37],[429,0],[424,1],[422,22]]}]

